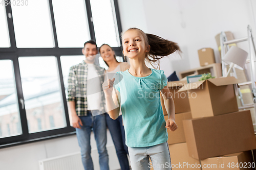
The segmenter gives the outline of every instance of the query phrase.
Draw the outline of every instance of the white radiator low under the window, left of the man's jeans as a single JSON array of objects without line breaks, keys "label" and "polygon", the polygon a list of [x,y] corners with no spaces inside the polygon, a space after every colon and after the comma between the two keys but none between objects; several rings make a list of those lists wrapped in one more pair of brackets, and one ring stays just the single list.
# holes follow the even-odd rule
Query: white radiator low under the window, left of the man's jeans
[{"label": "white radiator low under the window, left of the man's jeans", "polygon": [[80,152],[39,161],[40,170],[84,170]]}]

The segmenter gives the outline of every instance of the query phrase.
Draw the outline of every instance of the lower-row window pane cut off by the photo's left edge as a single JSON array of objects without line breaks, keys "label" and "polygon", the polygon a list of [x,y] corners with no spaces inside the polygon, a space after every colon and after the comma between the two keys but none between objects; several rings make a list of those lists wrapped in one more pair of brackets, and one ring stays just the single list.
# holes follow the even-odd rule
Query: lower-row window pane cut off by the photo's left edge
[{"label": "lower-row window pane cut off by the photo's left edge", "polygon": [[0,138],[22,134],[11,60],[0,60]]}]

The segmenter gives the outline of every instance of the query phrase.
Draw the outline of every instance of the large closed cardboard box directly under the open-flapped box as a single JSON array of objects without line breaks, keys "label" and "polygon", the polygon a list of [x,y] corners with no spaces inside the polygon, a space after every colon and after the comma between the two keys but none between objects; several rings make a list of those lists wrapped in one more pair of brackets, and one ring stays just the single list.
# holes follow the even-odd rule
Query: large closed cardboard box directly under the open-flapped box
[{"label": "large closed cardboard box directly under the open-flapped box", "polygon": [[189,156],[205,159],[256,149],[249,110],[183,120]]}]

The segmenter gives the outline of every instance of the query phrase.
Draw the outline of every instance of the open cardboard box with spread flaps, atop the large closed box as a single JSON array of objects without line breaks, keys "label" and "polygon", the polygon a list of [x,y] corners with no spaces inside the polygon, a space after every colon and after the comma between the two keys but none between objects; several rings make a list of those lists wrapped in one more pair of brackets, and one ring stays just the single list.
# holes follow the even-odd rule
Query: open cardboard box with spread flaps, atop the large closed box
[{"label": "open cardboard box with spread flaps, atop the large closed box", "polygon": [[184,85],[193,118],[215,116],[238,111],[233,84],[240,83],[234,77],[215,78]]}]

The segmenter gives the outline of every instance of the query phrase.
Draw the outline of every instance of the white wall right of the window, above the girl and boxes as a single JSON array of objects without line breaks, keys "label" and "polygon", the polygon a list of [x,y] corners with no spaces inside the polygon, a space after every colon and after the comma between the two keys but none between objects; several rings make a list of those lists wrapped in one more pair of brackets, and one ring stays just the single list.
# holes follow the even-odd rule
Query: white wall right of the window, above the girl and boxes
[{"label": "white wall right of the window, above the girl and boxes", "polygon": [[[254,0],[119,0],[118,3],[123,30],[138,27],[179,43],[181,60],[173,55],[161,59],[160,68],[166,76],[174,70],[199,67],[197,51],[203,47],[213,48],[216,61],[220,62],[215,36],[221,31],[231,31],[234,38],[243,38],[249,24],[256,35]],[[247,42],[238,46],[248,49]]]}]

